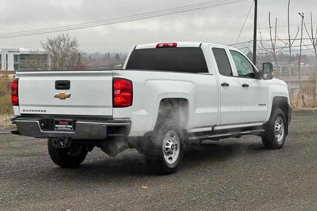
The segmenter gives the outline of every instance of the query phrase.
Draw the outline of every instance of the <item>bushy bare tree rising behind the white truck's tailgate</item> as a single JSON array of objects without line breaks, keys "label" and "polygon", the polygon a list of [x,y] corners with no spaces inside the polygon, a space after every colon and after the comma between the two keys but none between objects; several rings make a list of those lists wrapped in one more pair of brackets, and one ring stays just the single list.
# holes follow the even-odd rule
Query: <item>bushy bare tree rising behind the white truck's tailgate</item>
[{"label": "bushy bare tree rising behind the white truck's tailgate", "polygon": [[41,46],[50,58],[51,70],[73,70],[83,68],[83,56],[76,37],[58,35],[41,41]]}]

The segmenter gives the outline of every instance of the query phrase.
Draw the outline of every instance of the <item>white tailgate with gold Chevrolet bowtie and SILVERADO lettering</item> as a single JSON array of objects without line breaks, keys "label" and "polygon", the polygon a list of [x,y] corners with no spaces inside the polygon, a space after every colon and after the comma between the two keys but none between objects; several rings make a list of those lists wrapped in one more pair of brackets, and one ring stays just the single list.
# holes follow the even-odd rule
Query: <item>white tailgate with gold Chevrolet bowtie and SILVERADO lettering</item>
[{"label": "white tailgate with gold Chevrolet bowtie and SILVERADO lettering", "polygon": [[[111,70],[18,72],[18,75],[21,114],[112,116]],[[61,85],[62,81],[66,84],[69,81],[69,89],[55,89],[56,81],[61,81]]]}]

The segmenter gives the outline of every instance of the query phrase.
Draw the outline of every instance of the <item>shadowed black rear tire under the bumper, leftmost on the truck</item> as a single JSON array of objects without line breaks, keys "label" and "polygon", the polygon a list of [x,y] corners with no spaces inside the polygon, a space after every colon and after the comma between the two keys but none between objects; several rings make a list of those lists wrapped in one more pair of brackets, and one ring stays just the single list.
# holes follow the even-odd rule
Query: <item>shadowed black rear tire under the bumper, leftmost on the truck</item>
[{"label": "shadowed black rear tire under the bumper, leftmost on the truck", "polygon": [[[71,154],[71,149],[79,147],[78,153]],[[52,161],[61,167],[76,167],[84,161],[87,150],[79,144],[71,144],[69,148],[55,148],[51,139],[48,139],[48,150]]]}]

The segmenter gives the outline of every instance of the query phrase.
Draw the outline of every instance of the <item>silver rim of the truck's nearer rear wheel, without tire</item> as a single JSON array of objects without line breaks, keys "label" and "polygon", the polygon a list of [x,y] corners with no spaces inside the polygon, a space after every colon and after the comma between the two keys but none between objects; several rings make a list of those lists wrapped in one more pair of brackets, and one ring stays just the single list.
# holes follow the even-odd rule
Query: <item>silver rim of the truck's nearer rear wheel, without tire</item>
[{"label": "silver rim of the truck's nearer rear wheel, without tire", "polygon": [[168,131],[163,141],[164,159],[168,164],[173,164],[179,155],[179,138],[174,131]]}]

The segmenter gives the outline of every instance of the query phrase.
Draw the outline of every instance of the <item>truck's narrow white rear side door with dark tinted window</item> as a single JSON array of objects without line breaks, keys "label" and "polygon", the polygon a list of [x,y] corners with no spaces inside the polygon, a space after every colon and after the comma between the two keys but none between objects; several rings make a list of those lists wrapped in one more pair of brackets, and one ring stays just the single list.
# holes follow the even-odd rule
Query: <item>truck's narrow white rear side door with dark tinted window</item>
[{"label": "truck's narrow white rear side door with dark tinted window", "polygon": [[220,87],[220,125],[238,124],[241,117],[241,85],[235,77],[227,51],[209,46]]}]

